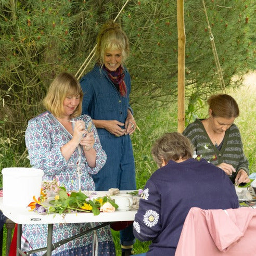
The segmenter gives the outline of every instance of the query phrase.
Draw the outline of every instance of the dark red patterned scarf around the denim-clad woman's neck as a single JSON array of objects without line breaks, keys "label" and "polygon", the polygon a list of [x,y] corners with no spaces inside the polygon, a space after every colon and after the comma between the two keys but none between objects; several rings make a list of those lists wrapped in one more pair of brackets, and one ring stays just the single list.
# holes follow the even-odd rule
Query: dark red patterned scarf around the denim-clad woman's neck
[{"label": "dark red patterned scarf around the denim-clad woman's neck", "polygon": [[105,65],[103,66],[103,68],[107,71],[108,76],[110,80],[113,82],[113,84],[119,88],[121,96],[125,97],[127,95],[127,89],[123,80],[124,70],[122,66],[120,65],[116,71],[110,71],[105,67]]}]

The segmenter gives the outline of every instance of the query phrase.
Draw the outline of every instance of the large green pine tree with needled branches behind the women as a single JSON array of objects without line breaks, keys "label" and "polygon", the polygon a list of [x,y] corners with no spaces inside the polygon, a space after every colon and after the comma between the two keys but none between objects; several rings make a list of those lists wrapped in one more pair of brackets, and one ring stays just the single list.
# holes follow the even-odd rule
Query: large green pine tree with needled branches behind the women
[{"label": "large green pine tree with needled branches behind the women", "polygon": [[[114,19],[125,2],[0,0],[1,145],[10,145],[11,152],[20,157],[25,148],[25,127],[43,111],[41,99],[49,83],[62,70],[78,71],[95,46],[101,25]],[[194,112],[198,98],[220,87],[202,2],[184,3],[185,86],[193,103],[189,112]],[[224,81],[232,86],[233,75],[252,69],[255,62],[255,3],[207,0],[206,7]],[[136,116],[175,101],[176,2],[131,0],[117,21],[131,42],[126,65],[132,75],[131,103]],[[93,65],[94,61],[85,72]]]}]

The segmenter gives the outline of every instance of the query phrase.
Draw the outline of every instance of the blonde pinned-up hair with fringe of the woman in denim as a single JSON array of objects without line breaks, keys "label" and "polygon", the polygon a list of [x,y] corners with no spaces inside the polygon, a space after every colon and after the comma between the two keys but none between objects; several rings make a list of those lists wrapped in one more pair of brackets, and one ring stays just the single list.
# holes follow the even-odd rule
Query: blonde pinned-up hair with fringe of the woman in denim
[{"label": "blonde pinned-up hair with fringe of the woman in denim", "polygon": [[121,25],[113,20],[105,23],[97,36],[95,56],[100,66],[103,66],[106,50],[122,50],[122,62],[130,53],[127,35],[122,30]]}]

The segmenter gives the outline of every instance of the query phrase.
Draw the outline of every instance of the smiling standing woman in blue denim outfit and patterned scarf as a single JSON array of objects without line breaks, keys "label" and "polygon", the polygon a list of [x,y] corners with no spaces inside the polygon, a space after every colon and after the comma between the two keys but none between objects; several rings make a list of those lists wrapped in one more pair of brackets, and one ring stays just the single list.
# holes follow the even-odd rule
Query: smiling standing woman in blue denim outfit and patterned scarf
[{"label": "smiling standing woman in blue denim outfit and patterned scarf", "polygon": [[[107,153],[105,166],[93,175],[96,190],[136,189],[130,135],[136,129],[129,104],[130,74],[123,66],[129,41],[120,25],[107,22],[97,37],[96,64],[80,81],[84,92],[82,113],[92,117],[100,143]],[[134,244],[132,226],[120,232],[122,255]]]}]

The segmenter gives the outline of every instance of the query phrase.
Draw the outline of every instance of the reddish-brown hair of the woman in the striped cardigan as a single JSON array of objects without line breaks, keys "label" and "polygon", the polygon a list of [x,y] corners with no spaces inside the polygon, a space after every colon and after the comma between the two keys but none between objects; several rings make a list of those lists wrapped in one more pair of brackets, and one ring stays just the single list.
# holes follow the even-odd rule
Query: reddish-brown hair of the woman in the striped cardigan
[{"label": "reddish-brown hair of the woman in the striped cardigan", "polygon": [[212,110],[213,117],[221,118],[237,118],[239,116],[239,108],[236,100],[227,94],[212,95],[207,103],[209,109]]}]

